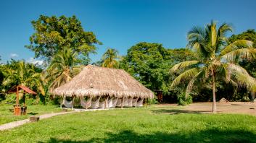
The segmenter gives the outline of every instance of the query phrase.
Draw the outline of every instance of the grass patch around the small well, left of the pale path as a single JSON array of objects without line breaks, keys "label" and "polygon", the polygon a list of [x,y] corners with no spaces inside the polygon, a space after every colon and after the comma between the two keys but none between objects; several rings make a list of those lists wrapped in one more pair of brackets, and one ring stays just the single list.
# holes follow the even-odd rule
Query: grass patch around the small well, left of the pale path
[{"label": "grass patch around the small well, left of the pale path", "polygon": [[44,113],[52,113],[61,111],[60,108],[55,108],[56,105],[28,105],[27,115],[26,116],[14,116],[9,109],[13,108],[13,105],[10,104],[0,104],[0,124],[9,123],[12,121],[18,121],[29,116],[41,115]]}]

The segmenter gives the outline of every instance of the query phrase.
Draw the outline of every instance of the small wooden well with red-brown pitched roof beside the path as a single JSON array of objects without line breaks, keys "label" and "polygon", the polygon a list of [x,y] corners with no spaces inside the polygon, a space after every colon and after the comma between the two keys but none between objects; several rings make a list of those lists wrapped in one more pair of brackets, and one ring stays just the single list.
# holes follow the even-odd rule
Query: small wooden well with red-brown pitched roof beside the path
[{"label": "small wooden well with red-brown pitched roof beside the path", "polygon": [[[20,92],[20,90],[23,90]],[[19,103],[19,93],[29,93],[32,95],[36,95],[36,92],[33,90],[30,90],[28,87],[25,87],[23,85],[17,85],[16,87],[13,87],[11,90],[7,91],[8,93],[16,93],[16,104],[14,105],[14,114],[15,116],[21,116],[26,114],[27,106],[25,105],[25,97],[24,97],[24,103],[23,106],[20,106]]]}]

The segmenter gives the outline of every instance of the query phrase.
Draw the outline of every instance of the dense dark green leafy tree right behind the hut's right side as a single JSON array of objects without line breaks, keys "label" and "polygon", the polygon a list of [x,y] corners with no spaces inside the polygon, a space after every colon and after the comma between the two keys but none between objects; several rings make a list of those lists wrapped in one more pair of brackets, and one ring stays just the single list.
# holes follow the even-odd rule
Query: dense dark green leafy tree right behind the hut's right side
[{"label": "dense dark green leafy tree right behind the hut's right side", "polygon": [[185,54],[184,49],[166,49],[159,43],[137,43],[128,49],[127,56],[120,61],[120,68],[150,90],[168,93],[171,79],[168,69],[176,62],[185,60]]}]

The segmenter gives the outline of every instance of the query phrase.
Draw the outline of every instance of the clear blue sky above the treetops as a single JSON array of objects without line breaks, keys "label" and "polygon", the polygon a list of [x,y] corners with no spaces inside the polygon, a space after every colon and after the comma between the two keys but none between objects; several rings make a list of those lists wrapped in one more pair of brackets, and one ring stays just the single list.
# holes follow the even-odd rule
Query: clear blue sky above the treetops
[{"label": "clear blue sky above the treetops", "polygon": [[128,48],[141,41],[162,43],[166,48],[183,48],[186,32],[210,20],[234,25],[237,34],[256,29],[255,0],[174,1],[174,0],[102,0],[102,1],[0,1],[0,56],[30,60],[34,56],[24,45],[33,33],[30,21],[40,14],[75,15],[83,28],[96,34],[98,46],[93,61],[110,47],[125,55]]}]

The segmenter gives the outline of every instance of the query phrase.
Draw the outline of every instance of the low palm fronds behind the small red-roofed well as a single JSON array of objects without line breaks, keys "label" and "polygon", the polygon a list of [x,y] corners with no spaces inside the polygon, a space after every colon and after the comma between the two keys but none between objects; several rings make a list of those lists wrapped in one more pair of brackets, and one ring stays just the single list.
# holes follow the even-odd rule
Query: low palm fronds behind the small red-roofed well
[{"label": "low palm fronds behind the small red-roofed well", "polygon": [[4,86],[7,85],[25,85],[30,88],[36,88],[42,95],[45,95],[44,81],[40,71],[37,71],[33,64],[25,61],[12,61],[11,64],[4,66]]}]

